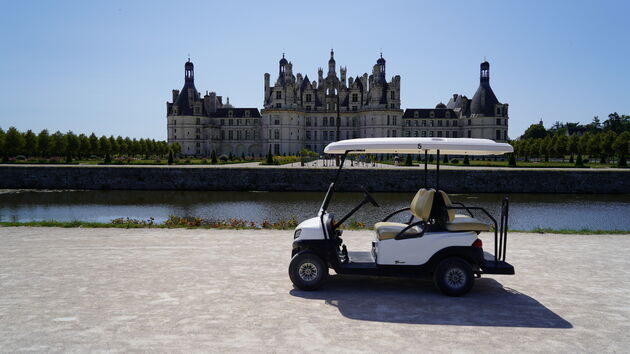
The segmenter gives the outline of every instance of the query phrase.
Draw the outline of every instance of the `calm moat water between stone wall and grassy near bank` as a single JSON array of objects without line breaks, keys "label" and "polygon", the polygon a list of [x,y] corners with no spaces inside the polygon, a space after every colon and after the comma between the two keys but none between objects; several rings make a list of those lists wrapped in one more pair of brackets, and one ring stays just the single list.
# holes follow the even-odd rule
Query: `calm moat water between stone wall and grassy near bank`
[{"label": "calm moat water between stone wall and grassy near bank", "polygon": [[[351,218],[371,225],[391,211],[408,207],[413,194],[374,193],[380,208],[365,205]],[[0,221],[97,221],[119,217],[169,215],[205,219],[238,218],[260,223],[315,216],[324,193],[205,191],[14,191],[0,192]],[[486,208],[498,219],[499,194],[453,195],[453,201]],[[630,195],[513,194],[510,228],[630,230]],[[329,210],[343,216],[361,200],[358,193],[337,193]]]}]

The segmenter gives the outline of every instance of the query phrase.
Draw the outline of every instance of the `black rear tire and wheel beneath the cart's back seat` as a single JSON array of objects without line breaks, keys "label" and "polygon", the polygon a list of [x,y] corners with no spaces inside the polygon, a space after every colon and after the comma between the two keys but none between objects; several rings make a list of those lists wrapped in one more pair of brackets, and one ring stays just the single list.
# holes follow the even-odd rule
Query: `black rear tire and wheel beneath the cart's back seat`
[{"label": "black rear tire and wheel beneath the cart's back seat", "polygon": [[472,266],[461,258],[446,258],[435,268],[433,283],[444,295],[465,295],[475,284]]}]

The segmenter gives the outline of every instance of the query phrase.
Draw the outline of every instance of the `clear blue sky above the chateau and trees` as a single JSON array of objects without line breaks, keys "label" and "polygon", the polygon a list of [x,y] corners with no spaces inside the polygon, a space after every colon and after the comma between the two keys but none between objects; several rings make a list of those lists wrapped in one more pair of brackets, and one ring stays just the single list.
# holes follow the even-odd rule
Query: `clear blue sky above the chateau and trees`
[{"label": "clear blue sky above the chateau and trees", "polygon": [[542,118],[630,114],[630,1],[8,1],[0,127],[165,139],[188,53],[201,92],[261,108],[282,52],[315,78],[330,47],[349,75],[380,48],[403,108],[472,97],[479,63],[510,136]]}]

